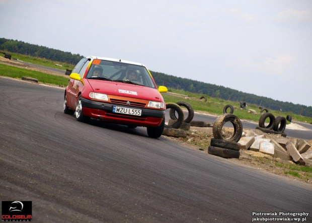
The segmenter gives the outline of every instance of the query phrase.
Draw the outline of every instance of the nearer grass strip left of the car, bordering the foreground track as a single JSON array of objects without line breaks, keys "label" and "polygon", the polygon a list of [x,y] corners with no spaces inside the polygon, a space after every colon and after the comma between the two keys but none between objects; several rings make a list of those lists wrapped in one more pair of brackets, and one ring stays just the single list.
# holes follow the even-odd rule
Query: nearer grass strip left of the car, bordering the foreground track
[{"label": "nearer grass strip left of the car, bordering the foreground track", "polygon": [[61,87],[67,86],[68,84],[68,78],[48,75],[47,73],[18,68],[15,66],[10,66],[10,65],[5,65],[5,64],[0,64],[0,76],[20,78],[20,79],[23,76],[31,77],[31,78],[38,79],[39,82],[42,82],[44,84],[54,84],[54,85],[58,85]]}]

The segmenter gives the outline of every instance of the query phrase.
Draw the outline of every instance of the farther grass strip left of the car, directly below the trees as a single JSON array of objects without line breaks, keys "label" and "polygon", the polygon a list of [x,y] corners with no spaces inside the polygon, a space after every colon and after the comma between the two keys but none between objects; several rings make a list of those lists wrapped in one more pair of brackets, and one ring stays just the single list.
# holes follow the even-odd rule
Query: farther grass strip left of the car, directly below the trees
[{"label": "farther grass strip left of the car, directly below the trees", "polygon": [[[41,57],[27,56],[27,55],[23,55],[19,53],[11,53],[11,52],[8,52],[8,53],[12,55],[12,59],[13,58],[19,59],[25,62],[34,63],[34,64],[52,67],[52,68],[61,69],[61,70],[73,69],[75,65],[75,64],[65,63],[65,62],[53,61],[53,60],[49,60],[49,59],[45,59]],[[1,55],[4,56],[4,54],[1,54]],[[62,66],[56,66],[55,64],[60,64]]]}]

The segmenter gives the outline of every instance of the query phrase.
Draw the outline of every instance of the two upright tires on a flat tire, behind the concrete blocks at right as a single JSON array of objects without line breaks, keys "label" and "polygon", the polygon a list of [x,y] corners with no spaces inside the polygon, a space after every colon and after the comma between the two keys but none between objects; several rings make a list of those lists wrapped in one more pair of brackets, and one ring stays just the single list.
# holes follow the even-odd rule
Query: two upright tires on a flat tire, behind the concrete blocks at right
[{"label": "two upright tires on a flat tire, behind the concrete blocks at right", "polygon": [[[267,118],[270,119],[270,122],[266,126],[265,120]],[[275,116],[269,112],[263,113],[261,115],[261,117],[259,119],[259,127],[256,127],[256,129],[259,129],[263,132],[281,134],[283,137],[286,137],[286,133],[284,133],[285,128],[286,128],[286,118],[283,116],[277,116],[275,118]]]}]

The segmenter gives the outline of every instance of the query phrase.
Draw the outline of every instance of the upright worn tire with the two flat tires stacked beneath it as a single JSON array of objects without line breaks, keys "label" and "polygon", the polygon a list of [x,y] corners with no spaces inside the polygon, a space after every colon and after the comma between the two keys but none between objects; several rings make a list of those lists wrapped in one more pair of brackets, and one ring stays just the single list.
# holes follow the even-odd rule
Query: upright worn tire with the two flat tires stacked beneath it
[{"label": "upright worn tire with the two flat tires stacked beneath it", "polygon": [[[226,122],[231,122],[234,127],[233,135],[224,139],[222,127]],[[243,134],[241,120],[233,114],[223,114],[217,117],[212,127],[213,138],[208,147],[208,154],[222,158],[240,158],[241,144],[238,141]]]}]

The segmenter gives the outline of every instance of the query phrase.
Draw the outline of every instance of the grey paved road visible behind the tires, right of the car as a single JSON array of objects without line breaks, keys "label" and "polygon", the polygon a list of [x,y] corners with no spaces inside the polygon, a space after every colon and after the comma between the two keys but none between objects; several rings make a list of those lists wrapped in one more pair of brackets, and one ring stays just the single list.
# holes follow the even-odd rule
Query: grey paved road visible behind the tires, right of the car
[{"label": "grey paved road visible behind the tires, right of the car", "polygon": [[[187,115],[188,115],[188,113],[186,111],[185,112],[185,116],[187,116]],[[166,120],[169,120],[169,119],[170,119],[169,111],[166,111]],[[214,123],[215,119],[216,119],[216,117],[212,116],[212,115],[205,115],[205,114],[195,113],[193,120]],[[294,122],[294,123],[300,124],[300,125],[302,125],[305,128],[312,129],[312,125],[309,126],[309,124],[304,124],[302,122]],[[242,124],[243,124],[243,128],[251,128],[251,129],[255,129],[256,126],[259,126],[256,123],[248,122],[248,121],[242,121]],[[229,123],[229,122],[226,123],[224,126],[226,126],[226,127],[233,127],[233,125],[231,123]],[[285,129],[284,132],[287,134],[287,137],[295,137],[295,138],[301,138],[301,139],[305,139],[305,140],[312,139],[312,131],[287,129],[287,126],[286,126],[286,129]]]}]

